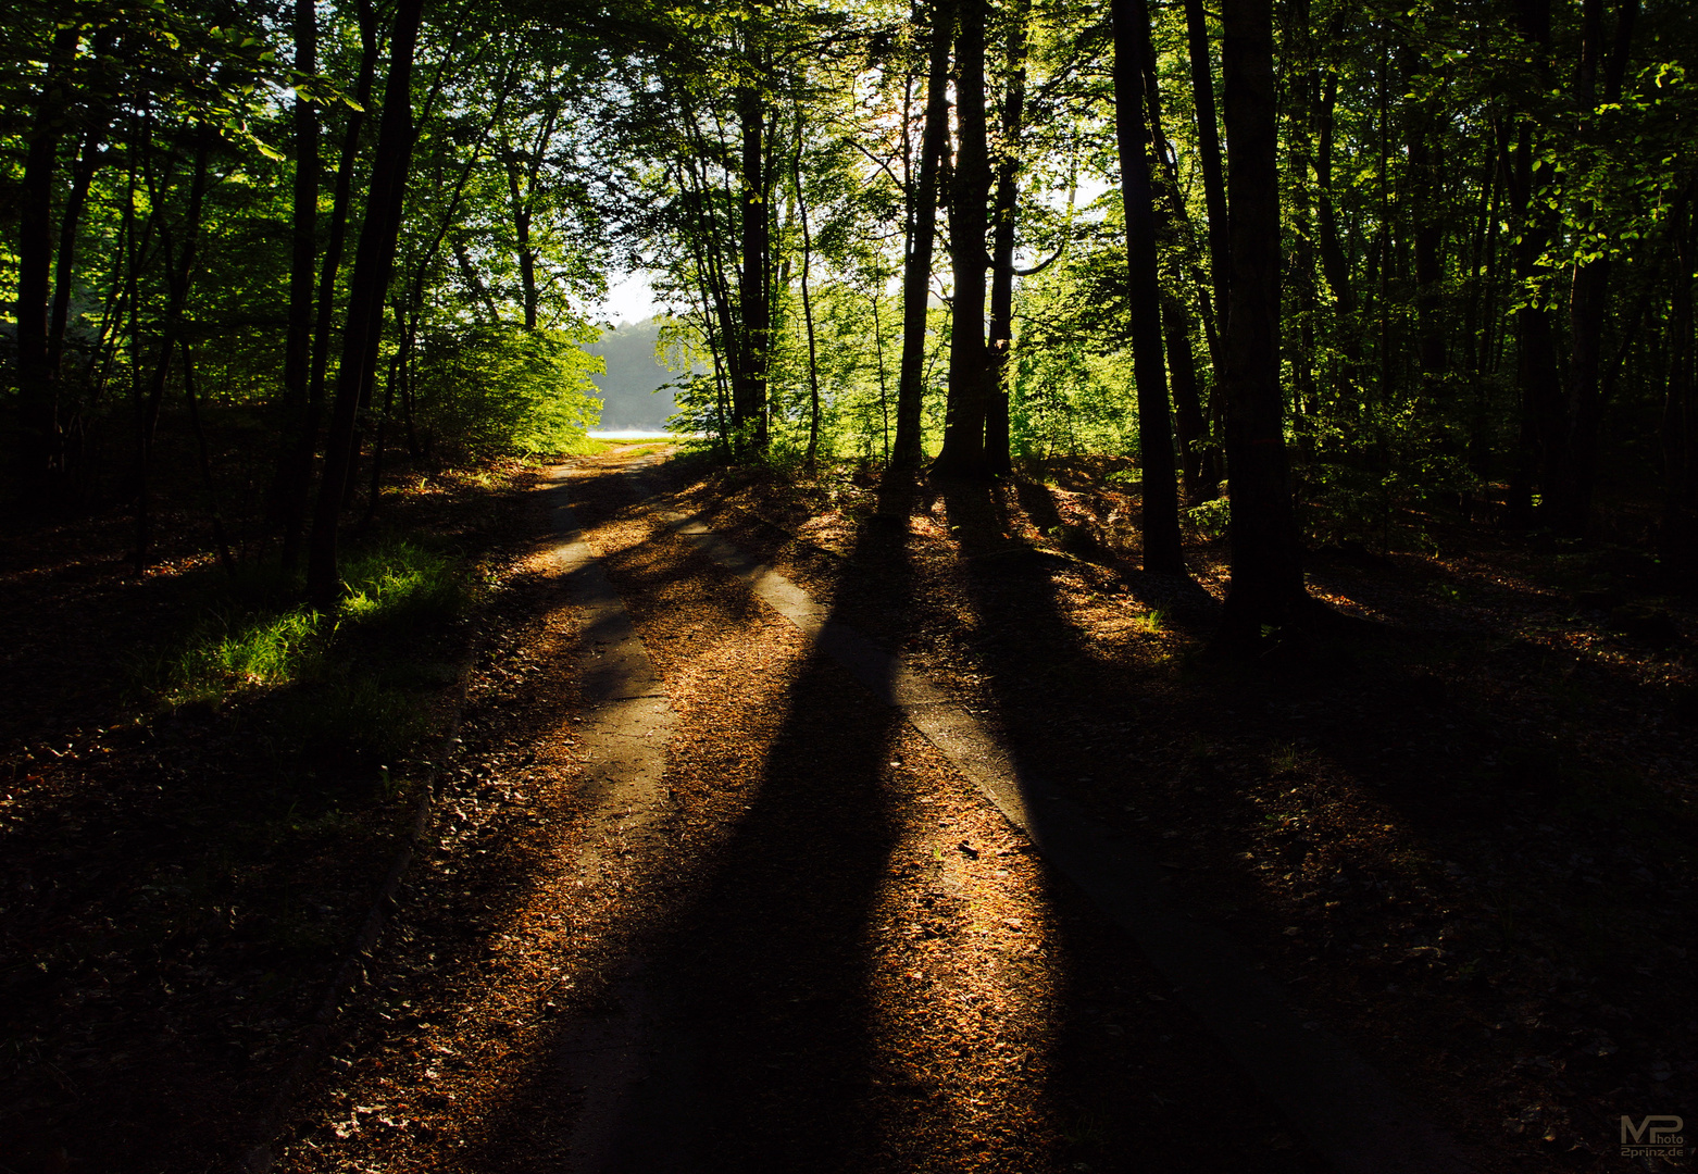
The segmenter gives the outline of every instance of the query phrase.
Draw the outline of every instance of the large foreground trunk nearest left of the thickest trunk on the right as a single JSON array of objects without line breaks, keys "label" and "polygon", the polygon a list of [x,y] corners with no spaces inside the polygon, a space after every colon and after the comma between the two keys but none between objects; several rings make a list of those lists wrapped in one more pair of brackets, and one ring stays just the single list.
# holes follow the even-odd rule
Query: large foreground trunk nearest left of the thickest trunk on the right
[{"label": "large foreground trunk nearest left of the thickest trunk on the right", "polygon": [[1161,353],[1161,277],[1156,270],[1155,189],[1150,183],[1151,138],[1144,121],[1150,10],[1144,0],[1112,0],[1109,12],[1114,20],[1114,129],[1121,151],[1121,200],[1126,207],[1126,302],[1131,311],[1138,452],[1144,483],[1144,571],[1184,574],[1173,426]]}]

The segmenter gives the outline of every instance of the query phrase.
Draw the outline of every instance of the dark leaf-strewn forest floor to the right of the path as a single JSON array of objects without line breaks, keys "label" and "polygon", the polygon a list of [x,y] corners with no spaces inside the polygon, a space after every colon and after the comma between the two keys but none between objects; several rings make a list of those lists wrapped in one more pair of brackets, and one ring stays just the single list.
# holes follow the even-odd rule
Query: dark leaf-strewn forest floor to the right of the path
[{"label": "dark leaf-strewn forest floor to the right of the path", "polygon": [[[1691,596],[1637,550],[1435,510],[1399,520],[1423,552],[1311,554],[1311,591],[1355,620],[1340,634],[1228,658],[1224,539],[1189,528],[1195,584],[1143,574],[1110,466],[907,489],[732,471],[693,496],[1143,841],[1304,1019],[1467,1142],[1622,1169],[1620,1116],[1698,1087]],[[846,576],[869,527],[890,573]],[[900,624],[878,591],[898,566]]]}]

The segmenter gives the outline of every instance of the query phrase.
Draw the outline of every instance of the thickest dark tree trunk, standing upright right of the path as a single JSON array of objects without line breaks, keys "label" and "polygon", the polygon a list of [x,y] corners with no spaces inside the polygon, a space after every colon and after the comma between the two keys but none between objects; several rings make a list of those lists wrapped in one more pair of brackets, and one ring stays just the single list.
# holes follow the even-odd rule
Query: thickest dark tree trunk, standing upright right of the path
[{"label": "thickest dark tree trunk, standing upright right of the path", "polygon": [[1309,603],[1290,501],[1279,348],[1279,133],[1272,0],[1224,0],[1226,167],[1233,207],[1226,319],[1226,462],[1233,581],[1229,641],[1287,624]]}]

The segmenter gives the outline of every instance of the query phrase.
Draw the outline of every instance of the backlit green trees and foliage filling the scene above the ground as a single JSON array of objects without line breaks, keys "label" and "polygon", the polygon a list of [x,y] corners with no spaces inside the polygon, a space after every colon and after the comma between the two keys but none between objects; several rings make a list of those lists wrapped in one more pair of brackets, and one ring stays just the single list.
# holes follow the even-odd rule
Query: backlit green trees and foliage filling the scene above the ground
[{"label": "backlit green trees and foliage filling the scene above the ground", "polygon": [[5,491],[129,494],[143,569],[161,426],[241,418],[333,591],[387,447],[572,447],[640,268],[683,432],[1136,455],[1148,569],[1228,494],[1250,629],[1411,503],[1650,501],[1690,573],[1695,46],[1666,0],[24,0]]}]

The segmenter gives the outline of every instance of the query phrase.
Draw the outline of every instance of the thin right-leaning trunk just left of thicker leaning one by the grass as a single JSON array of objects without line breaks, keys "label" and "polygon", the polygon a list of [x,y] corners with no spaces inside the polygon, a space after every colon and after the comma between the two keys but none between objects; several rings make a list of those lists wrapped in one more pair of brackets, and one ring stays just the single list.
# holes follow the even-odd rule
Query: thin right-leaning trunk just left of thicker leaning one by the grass
[{"label": "thin right-leaning trunk just left of thicker leaning one by the grass", "polygon": [[[372,87],[377,76],[377,15],[372,10],[372,0],[358,0],[358,15],[360,75],[353,87],[358,109],[348,114],[341,155],[336,161],[329,233],[324,241],[324,260],[319,267],[318,306],[312,311],[312,352],[307,370],[306,408],[294,437],[294,445],[282,454],[277,472],[277,496],[282,501],[284,530],[282,566],[290,573],[301,566],[301,545],[312,491],[312,454],[318,449],[319,425],[324,416],[324,381],[329,367],[331,318],[336,306],[336,274],[341,270],[343,246],[348,238],[348,207],[353,200],[353,167],[360,155],[360,131],[365,126],[365,109],[370,105]],[[290,284],[292,280],[294,275],[290,275]]]}]

